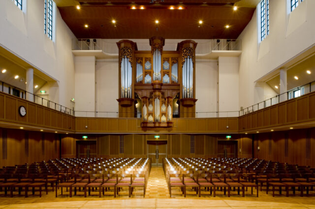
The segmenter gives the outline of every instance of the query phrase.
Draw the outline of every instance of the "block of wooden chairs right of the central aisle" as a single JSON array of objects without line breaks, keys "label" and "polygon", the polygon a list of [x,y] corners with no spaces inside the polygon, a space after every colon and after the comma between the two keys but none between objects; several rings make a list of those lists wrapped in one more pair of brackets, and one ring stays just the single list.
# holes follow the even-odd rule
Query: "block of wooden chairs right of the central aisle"
[{"label": "block of wooden chairs right of the central aisle", "polygon": [[[304,191],[315,187],[315,169],[309,166],[291,165],[287,163],[266,161],[253,158],[165,158],[163,170],[168,184],[170,196],[172,190],[176,193],[196,194],[199,197],[206,194],[230,195],[237,192],[245,197],[248,187],[258,187],[268,194],[272,188],[275,196],[276,188],[282,194],[285,189],[286,196],[295,195],[296,190],[303,197]],[[236,191],[237,190],[237,191]]]}]

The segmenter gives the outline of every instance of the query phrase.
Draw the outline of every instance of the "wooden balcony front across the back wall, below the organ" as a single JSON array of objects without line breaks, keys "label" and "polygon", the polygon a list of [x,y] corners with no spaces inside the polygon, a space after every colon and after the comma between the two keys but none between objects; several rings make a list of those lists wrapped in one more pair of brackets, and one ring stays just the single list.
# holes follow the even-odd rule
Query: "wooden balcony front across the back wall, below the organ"
[{"label": "wooden balcony front across the back wall, below the organ", "polygon": [[[206,133],[238,132],[238,118],[173,118],[172,128],[142,128],[140,118],[80,118],[77,132]],[[86,128],[87,127],[87,128]],[[226,128],[228,127],[228,128]]]}]

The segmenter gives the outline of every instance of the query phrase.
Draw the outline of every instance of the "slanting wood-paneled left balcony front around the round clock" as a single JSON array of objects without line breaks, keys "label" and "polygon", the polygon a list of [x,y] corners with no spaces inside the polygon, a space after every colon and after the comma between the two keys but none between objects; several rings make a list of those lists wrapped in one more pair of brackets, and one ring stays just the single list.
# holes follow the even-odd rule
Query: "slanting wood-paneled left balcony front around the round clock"
[{"label": "slanting wood-paneled left balcony front around the round clock", "polygon": [[[21,105],[26,108],[27,113],[24,117],[18,113]],[[53,130],[75,131],[75,117],[3,92],[0,92],[0,121]]]}]

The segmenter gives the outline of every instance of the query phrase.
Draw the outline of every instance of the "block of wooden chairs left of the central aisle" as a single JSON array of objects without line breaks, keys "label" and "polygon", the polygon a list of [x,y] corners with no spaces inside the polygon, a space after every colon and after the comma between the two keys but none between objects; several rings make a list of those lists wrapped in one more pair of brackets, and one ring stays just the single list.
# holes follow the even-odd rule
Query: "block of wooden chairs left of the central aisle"
[{"label": "block of wooden chairs left of the central aisle", "polygon": [[0,170],[0,192],[4,192],[4,196],[9,192],[13,197],[24,191],[25,197],[28,197],[32,188],[32,195],[38,191],[41,197],[42,188],[46,194],[56,189],[58,197],[58,190],[61,189],[63,195],[65,188],[70,197],[72,192],[74,195],[83,192],[84,197],[94,193],[98,197],[108,193],[114,197],[124,194],[130,197],[135,187],[141,187],[144,196],[150,170],[149,158],[52,159],[31,165],[3,167]]}]

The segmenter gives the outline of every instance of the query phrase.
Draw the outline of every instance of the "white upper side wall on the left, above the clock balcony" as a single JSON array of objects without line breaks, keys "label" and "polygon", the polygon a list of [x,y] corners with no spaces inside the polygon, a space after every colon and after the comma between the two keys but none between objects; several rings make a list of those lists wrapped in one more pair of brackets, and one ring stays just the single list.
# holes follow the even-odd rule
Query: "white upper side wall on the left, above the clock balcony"
[{"label": "white upper side wall on the left, above the clock balcony", "polygon": [[[56,9],[54,42],[44,34],[44,0],[27,0],[24,12],[12,0],[0,0],[0,46],[58,81],[58,100],[71,106],[74,97],[74,62],[71,40],[75,38]],[[25,5],[25,3],[24,3]]]}]

